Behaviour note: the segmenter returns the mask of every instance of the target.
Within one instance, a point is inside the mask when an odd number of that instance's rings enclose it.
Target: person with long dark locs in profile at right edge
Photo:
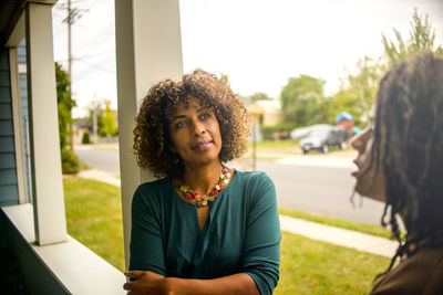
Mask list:
[[[382,224],[389,214],[400,241],[371,294],[443,294],[443,60],[426,53],[393,65],[370,127],[352,146],[356,191],[385,202]],[[404,242],[396,215],[408,231]]]

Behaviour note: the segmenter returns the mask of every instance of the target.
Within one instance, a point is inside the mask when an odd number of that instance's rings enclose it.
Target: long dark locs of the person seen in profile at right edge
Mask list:
[[[372,165],[378,169],[380,162],[385,176],[382,224],[391,225],[400,243],[384,273],[409,251],[410,244],[424,240],[432,244],[442,238],[442,114],[443,60],[432,53],[394,64],[380,82]],[[408,229],[404,242],[395,219],[398,213],[403,214]]]

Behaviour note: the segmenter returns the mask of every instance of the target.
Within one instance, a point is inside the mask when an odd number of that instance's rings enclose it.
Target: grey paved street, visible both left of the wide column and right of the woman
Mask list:
[[[85,164],[100,170],[120,173],[119,151],[76,147],[75,154]],[[349,152],[348,152],[349,154]],[[350,202],[354,179],[350,176],[354,154],[339,152],[323,156],[300,155],[280,160],[258,160],[257,170],[267,172],[276,183],[278,202],[292,208],[357,222],[380,224],[383,206],[356,196],[356,208]],[[248,165],[249,164],[249,165]],[[250,168],[250,160],[240,161]],[[248,167],[249,166],[249,167]]]

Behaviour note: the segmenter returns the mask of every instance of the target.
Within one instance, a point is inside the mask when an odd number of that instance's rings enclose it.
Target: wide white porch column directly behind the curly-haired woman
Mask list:
[[[115,0],[120,173],[126,267],[130,257],[131,201],[136,187],[152,180],[138,169],[133,126],[141,99],[166,77],[183,74],[178,0]]]

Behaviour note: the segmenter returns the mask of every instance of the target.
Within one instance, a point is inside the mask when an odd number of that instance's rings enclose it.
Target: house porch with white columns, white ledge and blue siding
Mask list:
[[[0,251],[11,259],[0,267],[17,271],[29,294],[125,294],[124,275],[66,233],[53,60],[55,2],[0,1]],[[115,20],[127,262],[132,196],[138,183],[152,179],[131,156],[132,124],[138,99],[154,83],[183,74],[178,0],[115,0]],[[1,287],[8,293],[13,286]]]

